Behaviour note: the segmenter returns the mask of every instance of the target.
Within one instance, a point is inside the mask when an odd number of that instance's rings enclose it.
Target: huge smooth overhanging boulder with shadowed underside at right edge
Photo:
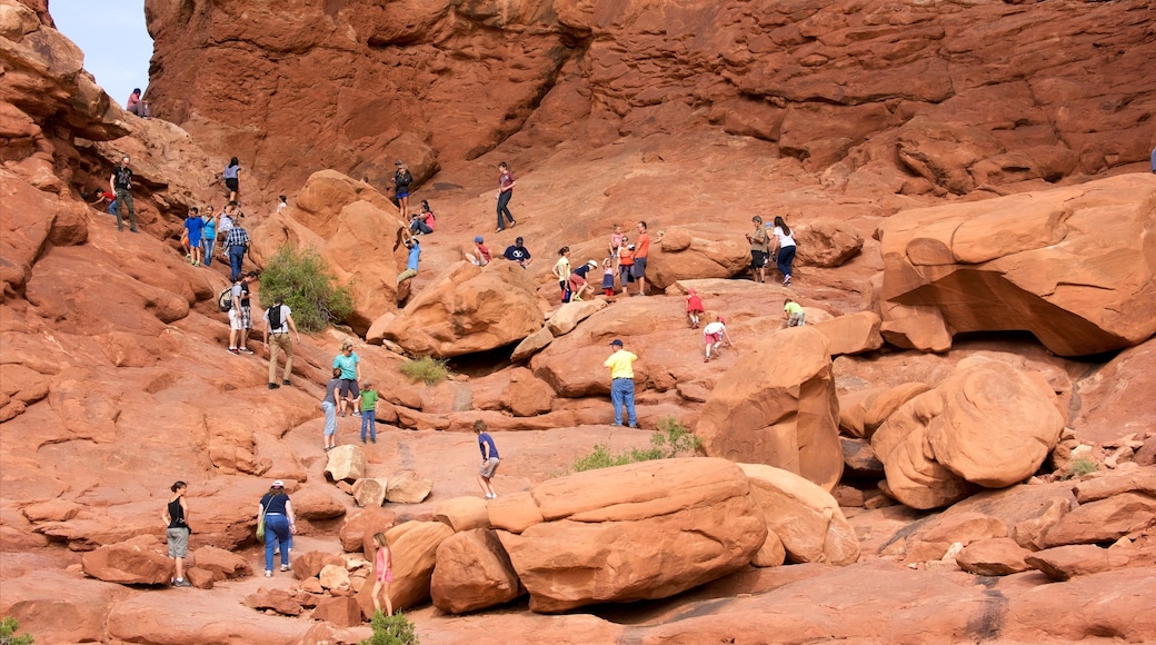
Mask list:
[[[1156,333],[1154,230],[1151,175],[907,210],[876,232],[880,296],[918,307],[924,329],[1027,329],[1061,356],[1131,347]],[[897,313],[883,309],[884,335],[903,333]],[[942,349],[931,338],[907,334]]]

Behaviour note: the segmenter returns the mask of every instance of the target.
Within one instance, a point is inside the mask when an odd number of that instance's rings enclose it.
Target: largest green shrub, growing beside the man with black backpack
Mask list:
[[[259,296],[264,307],[284,298],[302,332],[320,332],[354,311],[353,292],[336,284],[325,259],[312,249],[289,244],[281,245],[261,272]]]

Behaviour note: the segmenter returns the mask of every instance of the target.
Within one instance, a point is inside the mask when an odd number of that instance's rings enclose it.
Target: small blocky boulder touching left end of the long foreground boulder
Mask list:
[[[491,529],[455,533],[437,548],[430,596],[443,611],[464,614],[494,607],[524,591],[510,556]]]

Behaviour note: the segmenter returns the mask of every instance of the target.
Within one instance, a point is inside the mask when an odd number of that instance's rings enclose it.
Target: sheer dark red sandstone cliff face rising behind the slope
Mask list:
[[[968,193],[1147,158],[1142,0],[147,0],[156,112],[294,186],[721,128],[829,179]],[[540,148],[541,149],[541,148]]]

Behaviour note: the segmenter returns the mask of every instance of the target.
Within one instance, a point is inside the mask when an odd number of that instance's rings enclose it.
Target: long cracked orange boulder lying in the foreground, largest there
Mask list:
[[[721,459],[577,473],[529,501],[544,521],[498,536],[540,613],[667,598],[747,565],[766,538],[746,475]]]

